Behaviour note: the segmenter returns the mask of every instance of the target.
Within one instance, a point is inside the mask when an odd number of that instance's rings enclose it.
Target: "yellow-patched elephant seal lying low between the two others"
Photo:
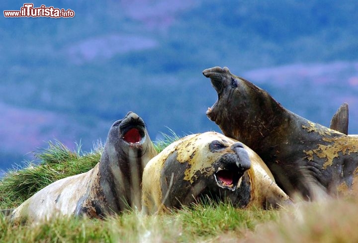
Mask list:
[[[205,197],[240,208],[290,202],[254,151],[216,132],[189,135],[164,149],[144,168],[142,191],[147,214]]]

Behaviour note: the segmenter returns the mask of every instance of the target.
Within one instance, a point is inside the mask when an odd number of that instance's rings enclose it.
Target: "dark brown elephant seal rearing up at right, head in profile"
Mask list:
[[[358,174],[358,139],[308,121],[268,92],[230,73],[203,71],[218,93],[207,116],[223,133],[245,143],[292,196],[318,199],[347,191]],[[322,196],[322,197],[321,197]]]

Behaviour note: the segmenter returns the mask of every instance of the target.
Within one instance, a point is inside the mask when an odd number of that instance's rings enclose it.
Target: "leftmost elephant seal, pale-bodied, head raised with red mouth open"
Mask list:
[[[130,206],[140,209],[143,169],[156,155],[144,121],[128,112],[111,126],[92,169],[41,189],[14,210],[12,221],[39,222],[59,215],[103,218]]]

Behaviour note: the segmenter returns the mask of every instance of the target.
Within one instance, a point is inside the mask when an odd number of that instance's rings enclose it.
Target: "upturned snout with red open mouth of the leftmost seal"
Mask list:
[[[138,144],[145,138],[145,123],[132,111],[127,113],[119,128],[123,140],[129,144]]]

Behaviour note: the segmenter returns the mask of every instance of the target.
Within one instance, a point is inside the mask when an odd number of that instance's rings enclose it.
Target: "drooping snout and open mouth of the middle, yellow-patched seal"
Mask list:
[[[219,187],[234,191],[245,171],[250,169],[249,155],[242,143],[231,146],[234,153],[224,154],[218,163],[214,177]]]

